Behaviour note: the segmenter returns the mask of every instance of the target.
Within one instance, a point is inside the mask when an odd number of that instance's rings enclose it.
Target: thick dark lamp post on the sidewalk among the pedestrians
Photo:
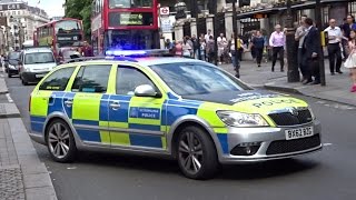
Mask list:
[[[287,18],[286,18],[286,44],[288,60],[288,82],[299,82],[300,74],[298,70],[297,49],[295,41],[295,28],[293,26],[291,0],[287,0]]]

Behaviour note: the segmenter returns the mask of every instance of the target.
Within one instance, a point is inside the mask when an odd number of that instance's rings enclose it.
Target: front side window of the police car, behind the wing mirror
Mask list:
[[[134,96],[135,89],[141,84],[150,84],[155,87],[154,82],[140,70],[130,67],[118,68],[116,81],[117,94]]]

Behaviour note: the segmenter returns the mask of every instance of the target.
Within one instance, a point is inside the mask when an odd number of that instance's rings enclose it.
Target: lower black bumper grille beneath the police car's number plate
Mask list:
[[[278,140],[273,141],[266,154],[281,154],[281,153],[290,153],[296,151],[303,151],[307,149],[313,149],[320,146],[320,136],[315,134],[308,138],[301,138],[297,140]]]

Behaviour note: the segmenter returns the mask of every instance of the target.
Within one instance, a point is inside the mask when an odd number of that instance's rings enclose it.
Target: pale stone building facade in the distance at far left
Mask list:
[[[7,50],[20,49],[27,40],[33,39],[37,27],[49,21],[44,10],[31,7],[22,0],[0,0],[1,30]],[[1,40],[1,37],[0,37]]]

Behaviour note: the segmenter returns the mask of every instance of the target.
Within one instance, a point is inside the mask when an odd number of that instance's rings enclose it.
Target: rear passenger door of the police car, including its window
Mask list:
[[[73,99],[67,100],[72,106],[72,124],[80,139],[87,144],[108,144],[108,80],[111,64],[88,64],[80,67],[71,91]]]

